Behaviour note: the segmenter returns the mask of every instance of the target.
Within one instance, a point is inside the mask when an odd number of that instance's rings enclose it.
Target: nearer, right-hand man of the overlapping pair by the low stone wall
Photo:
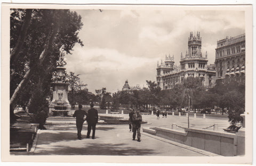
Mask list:
[[[136,132],[137,132],[137,138],[138,142],[140,142],[140,126],[141,126],[142,117],[140,115],[140,110],[137,110],[136,113],[132,116],[132,140],[135,140]]]

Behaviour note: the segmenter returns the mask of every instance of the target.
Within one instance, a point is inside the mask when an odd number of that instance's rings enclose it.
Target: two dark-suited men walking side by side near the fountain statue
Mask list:
[[[86,120],[87,121],[87,136],[86,138],[90,138],[91,129],[92,129],[92,139],[95,138],[95,130],[96,130],[96,124],[98,123],[98,111],[94,109],[94,104],[90,104],[91,109],[88,110],[88,113],[86,111],[82,110],[82,104],[79,104],[78,110],[75,111],[73,117],[76,117],[76,128],[77,128],[77,138],[82,139],[82,128],[83,123]],[[84,116],[86,118],[84,119]]]

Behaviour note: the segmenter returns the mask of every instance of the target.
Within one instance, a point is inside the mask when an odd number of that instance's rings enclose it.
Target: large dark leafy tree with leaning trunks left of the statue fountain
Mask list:
[[[14,118],[13,109],[20,99],[24,99],[23,95],[30,94],[30,98],[22,102],[32,104],[33,100],[39,100],[35,98],[38,92],[43,92],[42,100],[49,94],[51,73],[56,67],[60,46],[65,46],[67,54],[71,54],[75,43],[83,46],[78,38],[83,25],[81,19],[69,10],[11,10],[11,119]]]

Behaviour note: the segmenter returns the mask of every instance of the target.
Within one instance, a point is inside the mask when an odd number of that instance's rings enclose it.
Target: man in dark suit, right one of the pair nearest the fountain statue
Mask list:
[[[96,129],[96,124],[98,123],[98,111],[96,109],[94,109],[94,104],[93,102],[91,103],[91,109],[88,110],[88,115],[87,115],[87,137],[86,138],[90,138],[90,134],[91,134],[91,129],[92,129],[92,139],[94,139],[95,137],[95,129]]]

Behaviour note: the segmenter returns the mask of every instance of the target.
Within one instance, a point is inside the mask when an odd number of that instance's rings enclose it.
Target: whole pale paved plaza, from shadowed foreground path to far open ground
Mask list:
[[[100,114],[103,116],[103,114]],[[128,115],[108,115],[127,118]],[[148,124],[141,127],[171,127],[172,123],[186,127],[186,116],[168,116],[157,119],[155,115],[142,115]],[[48,121],[49,123],[49,121]],[[34,155],[159,155],[159,156],[211,156],[211,153],[183,146],[164,138],[143,133],[141,142],[132,141],[129,125],[97,125],[95,139],[86,139],[87,125],[84,124],[83,139],[77,139],[74,120],[69,124],[58,124],[52,120],[47,130],[39,130]],[[190,118],[191,128],[202,128],[217,123],[220,128],[229,124],[225,119]],[[221,129],[222,130],[222,129]]]

